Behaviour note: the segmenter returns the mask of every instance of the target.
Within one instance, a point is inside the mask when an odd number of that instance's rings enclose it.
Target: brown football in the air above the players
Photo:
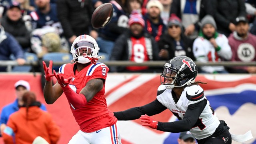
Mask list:
[[[103,28],[106,26],[112,19],[113,12],[113,6],[110,3],[98,6],[92,14],[92,27]]]

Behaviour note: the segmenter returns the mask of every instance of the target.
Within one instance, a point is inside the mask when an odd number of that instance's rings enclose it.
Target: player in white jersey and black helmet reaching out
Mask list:
[[[114,112],[118,120],[140,118],[142,126],[164,132],[190,131],[198,144],[231,144],[229,127],[218,120],[204,90],[195,82],[197,67],[191,58],[176,56],[164,65],[156,100],[140,107]],[[169,109],[175,122],[158,122],[150,116]]]

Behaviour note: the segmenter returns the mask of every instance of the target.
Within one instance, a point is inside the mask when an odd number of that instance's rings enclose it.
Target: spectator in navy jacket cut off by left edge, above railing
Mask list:
[[[0,24],[0,60],[11,60],[11,54],[19,65],[25,64],[22,47],[11,34],[4,31],[4,27]],[[2,71],[6,71],[6,67],[0,67],[0,72]]]

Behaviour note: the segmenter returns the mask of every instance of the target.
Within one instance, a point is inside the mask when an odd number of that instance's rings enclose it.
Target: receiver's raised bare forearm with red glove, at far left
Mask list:
[[[47,104],[53,104],[63,93],[60,85],[57,83],[52,86],[52,60],[50,60],[49,67],[46,66],[46,63],[43,61],[44,67],[44,76],[46,79],[44,85],[44,99]]]

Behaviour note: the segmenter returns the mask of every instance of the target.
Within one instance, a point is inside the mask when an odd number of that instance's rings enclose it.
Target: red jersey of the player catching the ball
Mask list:
[[[96,63],[90,64],[80,72],[76,70],[76,74],[74,74],[74,65],[75,64],[62,65],[59,69],[59,74],[64,76],[65,79],[70,78],[70,76],[73,77],[69,86],[77,94],[86,86],[89,80],[95,78],[106,80],[109,71],[109,68],[105,64]],[[92,100],[87,102],[86,106],[75,109],[70,102],[68,103],[76,122],[80,126],[80,130],[83,132],[95,132],[96,130],[112,126],[117,122],[114,113],[107,108],[105,82],[102,90],[100,90]]]

